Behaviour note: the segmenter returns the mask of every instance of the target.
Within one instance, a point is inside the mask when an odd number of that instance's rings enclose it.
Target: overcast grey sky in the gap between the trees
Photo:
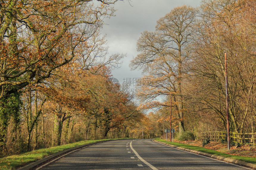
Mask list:
[[[201,0],[127,0],[118,1],[115,17],[105,19],[102,33],[107,34],[109,53],[127,53],[121,68],[113,70],[120,83],[124,78],[139,78],[141,71],[130,71],[129,62],[138,53],[136,43],[143,31],[154,31],[156,22],[177,6],[198,7]]]

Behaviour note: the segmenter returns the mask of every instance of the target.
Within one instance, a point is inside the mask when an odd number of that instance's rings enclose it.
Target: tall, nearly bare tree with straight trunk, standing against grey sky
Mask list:
[[[172,95],[179,131],[184,128],[183,80],[188,73],[196,21],[196,9],[186,5],[176,7],[157,21],[154,32],[144,31],[137,42],[140,54],[130,66],[142,69],[145,77],[137,96],[143,102],[141,108],[168,105],[157,101],[158,96]]]

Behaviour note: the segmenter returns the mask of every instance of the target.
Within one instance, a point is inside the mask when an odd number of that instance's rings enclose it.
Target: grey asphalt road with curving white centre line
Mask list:
[[[85,147],[38,169],[244,170],[246,168],[177,150],[153,142],[152,139],[127,139]]]

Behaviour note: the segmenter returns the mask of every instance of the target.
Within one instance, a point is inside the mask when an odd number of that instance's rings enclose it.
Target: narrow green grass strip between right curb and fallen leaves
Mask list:
[[[238,160],[238,161],[244,161],[244,162],[256,164],[256,158],[252,158],[252,157],[229,155],[229,154],[218,152],[218,151],[215,151],[215,150],[206,149],[204,147],[193,146],[193,145],[188,145],[188,144],[181,144],[181,143],[178,143],[178,142],[166,142],[166,140],[163,140],[163,139],[160,139],[160,138],[155,138],[155,140],[159,141],[159,142],[164,142],[164,143],[167,143],[167,144],[172,144],[172,145],[175,145],[175,146],[178,146],[178,147],[183,147],[183,148],[186,148],[186,149],[196,150],[196,151],[200,151],[200,152],[209,153],[209,154],[212,154],[212,155],[218,155],[218,156],[222,156],[222,157],[225,157],[225,158],[231,158],[231,159],[235,159],[235,160]]]

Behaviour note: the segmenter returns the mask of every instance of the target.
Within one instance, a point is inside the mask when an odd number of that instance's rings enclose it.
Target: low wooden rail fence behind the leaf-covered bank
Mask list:
[[[214,131],[214,132],[201,132],[197,133],[196,139],[204,140],[206,138],[210,138],[213,141],[219,141],[221,139],[225,139],[227,132],[222,131]],[[237,142],[240,144],[252,144],[256,145],[256,133],[230,133],[230,141]]]

